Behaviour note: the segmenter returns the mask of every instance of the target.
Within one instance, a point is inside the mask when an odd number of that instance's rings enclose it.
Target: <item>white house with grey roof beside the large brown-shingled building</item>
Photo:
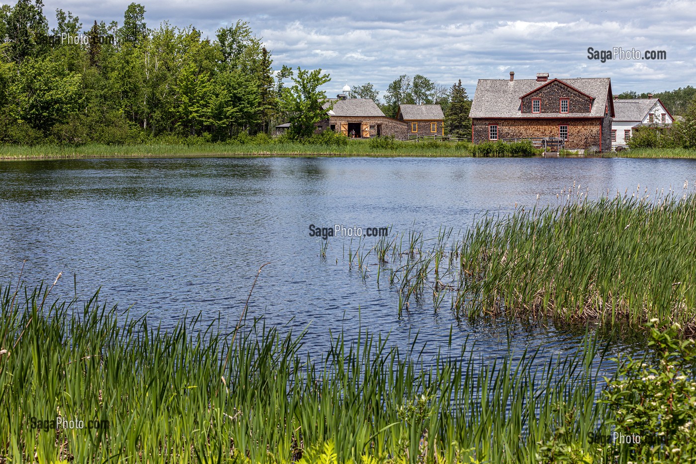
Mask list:
[[[669,127],[674,122],[670,111],[659,98],[631,98],[614,100],[615,116],[612,118],[612,147],[627,146],[633,131],[641,126]]]

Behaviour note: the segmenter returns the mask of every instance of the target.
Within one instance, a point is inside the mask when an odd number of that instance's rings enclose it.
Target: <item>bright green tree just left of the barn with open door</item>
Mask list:
[[[290,113],[290,137],[310,137],[315,124],[326,119],[326,111],[333,105],[324,108],[326,93],[319,87],[331,81],[328,74],[322,74],[321,69],[303,70],[297,68],[297,77],[292,78],[294,85],[289,92],[283,93],[283,107]]]

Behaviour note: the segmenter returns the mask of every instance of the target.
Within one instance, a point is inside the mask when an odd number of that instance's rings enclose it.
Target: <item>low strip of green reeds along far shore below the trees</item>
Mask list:
[[[342,146],[274,142],[266,144],[86,144],[0,146],[0,160],[40,160],[107,157],[245,157],[245,156],[470,156],[468,145],[450,142],[398,142],[390,148],[352,140]]]

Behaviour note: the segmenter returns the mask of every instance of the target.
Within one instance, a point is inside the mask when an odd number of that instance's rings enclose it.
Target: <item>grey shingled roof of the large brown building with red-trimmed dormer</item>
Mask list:
[[[552,79],[551,82],[561,82],[576,91],[594,98],[592,111],[589,113],[522,113],[521,100],[523,95],[548,85],[550,82],[538,82],[537,79],[479,79],[476,93],[471,103],[471,118],[578,118],[604,116],[604,108],[611,100],[611,79],[608,77]]]

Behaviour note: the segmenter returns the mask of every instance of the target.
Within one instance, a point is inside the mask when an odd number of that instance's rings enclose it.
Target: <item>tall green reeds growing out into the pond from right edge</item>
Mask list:
[[[684,185],[686,192],[688,185]],[[549,318],[638,328],[652,318],[696,332],[696,195],[640,190],[485,214],[464,234],[408,231],[371,248],[399,311],[414,300],[457,316]],[[363,248],[369,245],[363,245]],[[356,254],[365,254],[358,249]],[[359,268],[364,279],[374,265]]]

